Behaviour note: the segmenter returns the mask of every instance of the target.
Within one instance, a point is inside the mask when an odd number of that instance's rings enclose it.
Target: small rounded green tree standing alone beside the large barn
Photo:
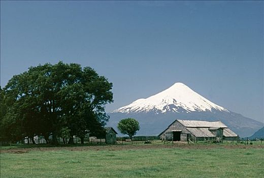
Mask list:
[[[130,139],[140,129],[139,122],[135,118],[124,118],[117,124],[117,128],[122,134],[128,135]]]

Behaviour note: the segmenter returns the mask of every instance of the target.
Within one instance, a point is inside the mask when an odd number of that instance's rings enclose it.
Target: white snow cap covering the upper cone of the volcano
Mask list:
[[[192,112],[192,111],[219,111],[229,112],[218,106],[183,83],[177,82],[168,89],[146,99],[138,99],[133,103],[123,106],[113,112],[139,113],[154,111],[156,113],[170,112]]]

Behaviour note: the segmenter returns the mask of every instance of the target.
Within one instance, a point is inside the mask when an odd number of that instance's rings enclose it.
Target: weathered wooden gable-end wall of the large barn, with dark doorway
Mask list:
[[[173,130],[181,130],[181,141],[187,141],[187,134],[191,134],[186,127],[184,127],[178,121],[175,121],[167,130],[163,131],[160,135],[160,139],[162,140],[172,140],[172,131]],[[191,134],[191,137],[194,138],[194,135]]]

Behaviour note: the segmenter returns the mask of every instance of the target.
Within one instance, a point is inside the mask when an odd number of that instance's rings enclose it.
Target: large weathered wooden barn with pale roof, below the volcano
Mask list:
[[[220,121],[175,120],[159,138],[168,141],[197,141],[205,139],[237,140],[238,135]]]

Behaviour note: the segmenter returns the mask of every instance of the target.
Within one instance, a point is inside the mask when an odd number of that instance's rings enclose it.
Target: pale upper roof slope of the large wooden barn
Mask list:
[[[177,120],[185,127],[218,127],[218,128],[228,128],[226,125],[220,121],[208,122],[208,121],[186,121],[186,120]],[[207,129],[208,130],[208,129]]]

